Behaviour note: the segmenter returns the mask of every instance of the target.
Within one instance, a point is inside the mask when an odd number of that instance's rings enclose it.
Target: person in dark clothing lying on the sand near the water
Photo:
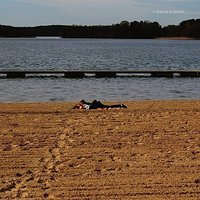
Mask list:
[[[86,102],[85,100],[81,100],[78,104],[76,104],[73,109],[98,109],[98,110],[108,110],[108,109],[119,109],[119,108],[127,108],[124,104],[116,104],[116,105],[104,105],[100,101],[94,100],[92,103]]]

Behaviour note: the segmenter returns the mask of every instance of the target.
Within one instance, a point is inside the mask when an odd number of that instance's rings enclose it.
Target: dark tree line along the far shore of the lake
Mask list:
[[[153,39],[156,37],[200,38],[200,19],[187,20],[179,25],[162,27],[158,22],[122,21],[104,26],[50,25],[37,27],[12,27],[0,25],[0,37],[63,37],[63,38],[130,38]]]

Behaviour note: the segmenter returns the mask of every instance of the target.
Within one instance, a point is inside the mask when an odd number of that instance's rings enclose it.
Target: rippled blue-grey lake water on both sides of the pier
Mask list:
[[[200,70],[200,41],[0,39],[0,70]],[[200,99],[199,78],[0,77],[0,102]]]

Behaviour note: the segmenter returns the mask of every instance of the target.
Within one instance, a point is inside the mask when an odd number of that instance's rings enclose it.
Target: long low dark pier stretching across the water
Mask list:
[[[27,76],[58,76],[65,78],[114,78],[114,77],[200,77],[200,70],[74,70],[74,71],[0,71],[0,77],[26,78]]]

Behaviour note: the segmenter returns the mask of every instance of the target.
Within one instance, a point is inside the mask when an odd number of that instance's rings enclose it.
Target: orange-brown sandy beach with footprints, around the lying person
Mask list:
[[[0,199],[199,199],[200,101],[0,104]]]

